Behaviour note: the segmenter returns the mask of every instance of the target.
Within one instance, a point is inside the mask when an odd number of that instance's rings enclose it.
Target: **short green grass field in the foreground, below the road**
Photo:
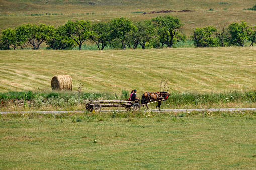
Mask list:
[[[255,113],[148,118],[112,118],[113,114],[2,115],[0,165],[4,169],[256,168]]]

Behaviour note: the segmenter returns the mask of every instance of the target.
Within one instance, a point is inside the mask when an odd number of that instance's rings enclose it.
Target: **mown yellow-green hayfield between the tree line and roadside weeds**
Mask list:
[[[51,90],[54,75],[69,74],[74,90],[255,90],[255,47],[106,51],[9,50],[0,54],[0,91]]]

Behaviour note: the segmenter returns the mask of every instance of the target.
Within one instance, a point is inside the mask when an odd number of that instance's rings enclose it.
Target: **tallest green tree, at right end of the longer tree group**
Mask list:
[[[163,45],[172,47],[176,42],[183,40],[184,36],[181,36],[179,33],[183,24],[178,18],[166,15],[153,18],[152,21],[157,27],[157,33],[162,47]]]

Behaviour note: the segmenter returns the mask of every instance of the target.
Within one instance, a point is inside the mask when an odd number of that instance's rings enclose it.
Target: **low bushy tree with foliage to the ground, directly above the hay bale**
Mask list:
[[[49,46],[49,49],[64,50],[74,48],[76,42],[70,37],[66,36],[64,32],[64,26],[59,26],[58,28],[54,29],[53,34],[46,39],[46,44]]]

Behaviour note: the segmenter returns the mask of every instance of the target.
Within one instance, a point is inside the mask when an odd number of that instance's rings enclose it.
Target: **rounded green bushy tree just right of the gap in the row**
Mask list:
[[[196,28],[192,40],[195,47],[218,47],[218,38],[215,37],[217,29],[213,26]]]

